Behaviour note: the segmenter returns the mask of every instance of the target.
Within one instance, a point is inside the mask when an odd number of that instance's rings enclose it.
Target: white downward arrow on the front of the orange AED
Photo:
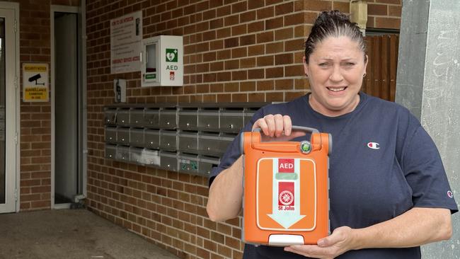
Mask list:
[[[272,214],[268,214],[268,216],[277,221],[284,229],[289,229],[290,226],[305,217],[305,215],[300,214],[300,161],[299,159],[294,159],[294,173],[297,174],[297,178],[294,180],[282,180],[283,182],[294,182],[294,210],[280,211],[278,209],[278,183],[280,180],[276,178],[277,171],[278,159],[273,159]]]

